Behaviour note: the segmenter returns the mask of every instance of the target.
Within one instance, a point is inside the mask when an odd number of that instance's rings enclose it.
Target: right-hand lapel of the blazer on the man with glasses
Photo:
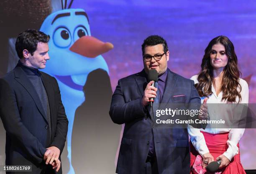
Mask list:
[[[160,108],[164,108],[167,105],[167,103],[171,102],[170,100],[172,100],[173,90],[177,82],[177,75],[171,72],[169,69],[167,70],[168,75],[166,79],[163,99],[161,101],[162,104],[160,105]]]

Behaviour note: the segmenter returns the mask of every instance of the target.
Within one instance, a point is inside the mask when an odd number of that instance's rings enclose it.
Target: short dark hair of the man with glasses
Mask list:
[[[154,45],[158,45],[158,44],[163,44],[165,53],[168,51],[168,45],[166,43],[166,40],[164,40],[164,38],[162,38],[161,36],[158,36],[158,35],[151,35],[151,36],[148,36],[144,40],[143,44],[141,45],[142,54],[144,55],[145,46],[154,46]]]

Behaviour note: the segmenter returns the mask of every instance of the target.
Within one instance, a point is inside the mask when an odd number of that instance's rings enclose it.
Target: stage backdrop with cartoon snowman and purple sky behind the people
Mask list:
[[[69,119],[63,171],[113,174],[122,126],[108,115],[111,95],[118,79],[143,69],[143,39],[163,36],[170,51],[168,67],[190,78],[199,72],[209,41],[228,36],[255,103],[255,11],[253,0],[2,0],[0,76],[18,61],[18,33],[35,28],[49,34],[51,59],[43,71],[57,79]],[[2,123],[0,129],[4,140]],[[245,169],[255,169],[255,136],[256,130],[247,129],[240,142]],[[0,165],[4,147],[0,141]]]

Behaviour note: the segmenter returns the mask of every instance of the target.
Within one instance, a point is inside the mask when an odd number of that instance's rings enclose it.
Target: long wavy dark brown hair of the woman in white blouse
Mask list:
[[[226,36],[218,36],[213,38],[205,49],[205,55],[202,59],[201,70],[198,74],[198,82],[195,87],[201,97],[207,97],[212,94],[212,83],[214,82],[213,67],[210,63],[210,54],[212,46],[222,44],[225,47],[225,54],[228,56],[228,64],[223,69],[223,78],[221,82],[221,91],[223,91],[222,100],[228,102],[236,102],[238,96],[241,101],[241,85],[239,84],[239,76],[241,72],[237,65],[237,56],[232,42]],[[238,91],[238,86],[240,90]]]

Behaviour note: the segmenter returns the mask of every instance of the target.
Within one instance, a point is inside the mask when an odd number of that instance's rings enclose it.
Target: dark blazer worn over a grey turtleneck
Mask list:
[[[68,129],[56,79],[44,72],[41,79],[49,100],[51,138],[47,136],[49,123],[43,106],[23,69],[17,65],[0,79],[0,117],[6,130],[5,165],[32,165],[33,174],[55,173],[46,167],[44,153],[50,146],[62,152]]]

